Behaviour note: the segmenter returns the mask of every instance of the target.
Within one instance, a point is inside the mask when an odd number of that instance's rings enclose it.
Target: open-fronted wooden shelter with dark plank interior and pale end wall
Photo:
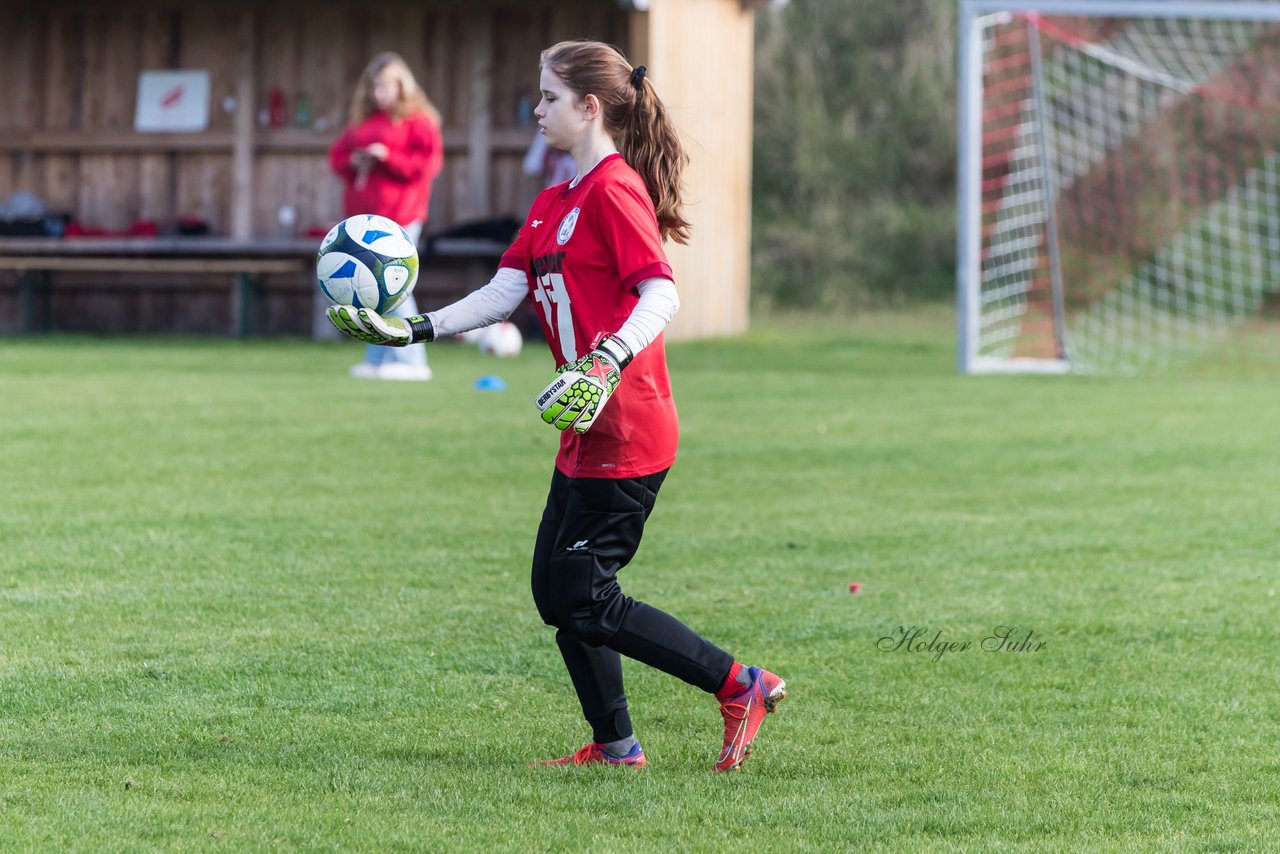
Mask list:
[[[668,245],[684,302],[672,335],[741,332],[753,5],[0,0],[0,204],[31,193],[84,228],[118,234],[143,223],[161,236],[150,245],[116,241],[131,248],[114,261],[82,252],[79,262],[73,252],[93,242],[73,247],[73,238],[60,238],[44,252],[38,288],[32,242],[0,237],[0,332],[32,325],[40,311],[58,330],[243,330],[236,314],[244,320],[243,300],[253,293],[252,330],[308,333],[315,287],[306,256],[319,242],[314,232],[342,218],[328,149],[367,60],[383,50],[402,54],[444,118],[445,168],[426,228],[433,234],[524,218],[540,189],[521,169],[536,129],[538,55],[577,37],[609,41],[649,67],[692,157],[694,241]],[[207,72],[206,127],[136,129],[140,74],[155,69]],[[197,220],[219,237],[177,234],[179,222]],[[220,262],[202,268],[215,246]],[[486,280],[493,261],[490,248],[488,256],[463,251],[433,264],[419,286],[420,303],[440,305],[480,283],[479,275]],[[228,300],[237,264],[244,275]],[[32,302],[37,297],[42,309]]]

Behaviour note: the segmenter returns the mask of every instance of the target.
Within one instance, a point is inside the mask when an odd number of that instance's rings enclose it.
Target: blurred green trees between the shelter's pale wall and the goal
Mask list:
[[[755,303],[948,298],[955,125],[954,0],[758,13]]]

